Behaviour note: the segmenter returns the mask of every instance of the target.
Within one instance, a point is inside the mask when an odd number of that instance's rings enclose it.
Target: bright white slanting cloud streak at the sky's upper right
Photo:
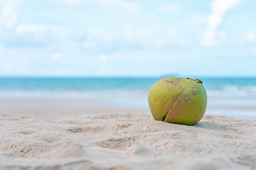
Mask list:
[[[202,35],[203,46],[215,46],[225,39],[225,33],[218,32],[226,12],[240,3],[240,0],[214,0],[211,3],[211,14],[208,18],[207,30]]]

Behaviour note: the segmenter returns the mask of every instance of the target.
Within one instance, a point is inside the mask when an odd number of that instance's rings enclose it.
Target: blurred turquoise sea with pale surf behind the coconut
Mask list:
[[[206,115],[256,118],[256,77],[193,77],[207,91]],[[0,99],[89,99],[150,114],[148,91],[161,77],[0,77]],[[100,100],[99,100],[100,99]]]

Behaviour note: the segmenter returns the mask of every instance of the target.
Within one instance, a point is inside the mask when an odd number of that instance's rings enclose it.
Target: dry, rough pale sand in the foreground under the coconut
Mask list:
[[[0,170],[254,170],[256,119],[0,113]]]

